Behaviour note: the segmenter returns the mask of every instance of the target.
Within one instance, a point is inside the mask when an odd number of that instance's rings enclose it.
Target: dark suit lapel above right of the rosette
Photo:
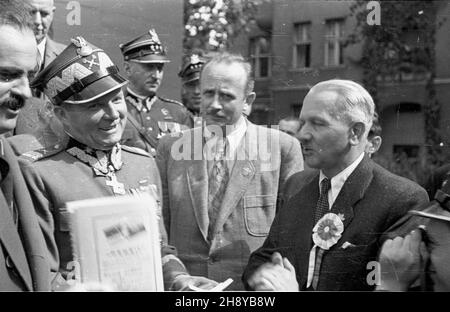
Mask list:
[[[361,163],[348,177],[347,181],[345,181],[344,186],[331,208],[332,213],[343,214],[344,231],[353,220],[353,207],[361,198],[363,198],[367,187],[372,181],[372,165],[371,160],[367,156],[364,156]]]

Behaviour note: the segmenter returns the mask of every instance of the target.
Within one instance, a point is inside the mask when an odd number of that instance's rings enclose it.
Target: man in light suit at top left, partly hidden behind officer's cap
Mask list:
[[[33,20],[33,31],[38,47],[38,72],[40,72],[65,49],[65,45],[55,42],[48,36],[55,12],[53,0],[26,2]],[[24,133],[33,134],[43,146],[47,147],[61,145],[67,139],[61,123],[53,114],[50,101],[43,93],[35,91],[19,115],[14,134]]]

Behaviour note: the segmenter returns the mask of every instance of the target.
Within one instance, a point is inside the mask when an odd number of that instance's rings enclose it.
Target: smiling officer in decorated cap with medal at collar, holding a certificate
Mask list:
[[[82,37],[72,39],[32,84],[52,101],[55,115],[70,137],[62,149],[41,149],[19,157],[51,267],[64,277],[73,267],[68,214],[63,208],[66,202],[141,192],[161,201],[161,181],[153,158],[119,143],[126,124],[121,90],[125,84],[108,55]],[[162,218],[159,222],[166,288],[216,285],[186,272],[175,249],[167,245]]]

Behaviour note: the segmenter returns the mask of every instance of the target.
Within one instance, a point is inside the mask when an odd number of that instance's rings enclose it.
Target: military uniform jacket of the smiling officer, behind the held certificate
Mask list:
[[[64,204],[68,201],[115,196],[106,177],[96,176],[92,168],[70,155],[66,149],[47,148],[31,151],[19,157],[25,181],[44,233],[51,260],[52,271],[65,277],[73,260],[68,226],[68,214]],[[127,193],[138,191],[145,184],[151,186],[160,202],[161,181],[153,158],[146,152],[122,146],[123,166],[116,171],[117,180],[124,184]],[[139,191],[138,191],[139,192]],[[160,213],[161,215],[161,213]],[[175,249],[167,246],[167,234],[160,218],[163,273],[166,286],[184,267],[175,255]],[[168,257],[165,261],[164,257]],[[174,260],[175,259],[175,260]],[[174,260],[174,261],[169,261]],[[58,285],[54,285],[58,286]]]

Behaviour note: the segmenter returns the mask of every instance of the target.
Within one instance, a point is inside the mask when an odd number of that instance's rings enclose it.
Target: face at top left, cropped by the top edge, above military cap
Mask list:
[[[39,43],[48,34],[53,21],[55,6],[53,0],[28,0],[28,2],[32,8],[34,36]]]

